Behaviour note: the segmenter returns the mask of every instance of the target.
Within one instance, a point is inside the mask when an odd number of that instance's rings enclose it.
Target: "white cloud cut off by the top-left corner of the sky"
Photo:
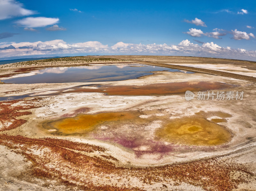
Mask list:
[[[22,7],[23,4],[15,0],[0,0],[0,20],[35,14],[35,11]]]

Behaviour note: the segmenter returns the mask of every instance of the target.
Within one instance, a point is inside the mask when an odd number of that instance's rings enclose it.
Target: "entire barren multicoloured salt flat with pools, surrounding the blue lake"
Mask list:
[[[46,68],[145,65],[177,71],[4,83]],[[256,190],[256,62],[77,56],[0,65],[0,80],[0,190]]]

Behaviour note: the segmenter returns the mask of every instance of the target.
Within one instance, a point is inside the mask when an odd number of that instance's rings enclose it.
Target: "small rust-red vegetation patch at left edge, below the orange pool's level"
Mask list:
[[[32,113],[29,111],[20,112],[20,110],[28,110],[41,107],[40,103],[38,102],[39,100],[40,99],[12,100],[0,102],[0,122],[2,125],[0,131],[15,129],[26,123],[27,120],[17,119],[17,117],[20,117],[22,115],[29,115]],[[17,106],[12,106],[12,104],[15,103],[20,103],[22,105],[17,104]]]

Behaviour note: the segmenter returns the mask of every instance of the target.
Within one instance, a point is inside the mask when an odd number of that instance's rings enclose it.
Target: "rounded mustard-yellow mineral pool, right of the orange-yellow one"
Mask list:
[[[224,127],[201,117],[175,119],[156,131],[156,136],[174,144],[214,146],[227,143],[231,134]]]

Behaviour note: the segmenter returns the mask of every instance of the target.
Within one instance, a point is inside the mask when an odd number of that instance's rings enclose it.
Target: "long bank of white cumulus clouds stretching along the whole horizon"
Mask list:
[[[136,55],[190,55],[206,57],[224,57],[233,59],[255,60],[256,52],[245,49],[224,48],[213,42],[202,45],[191,43],[188,39],[177,45],[167,44],[132,44],[117,42],[108,46],[99,41],[68,44],[64,40],[0,43],[0,58],[32,55],[67,55],[67,54],[136,54]]]

